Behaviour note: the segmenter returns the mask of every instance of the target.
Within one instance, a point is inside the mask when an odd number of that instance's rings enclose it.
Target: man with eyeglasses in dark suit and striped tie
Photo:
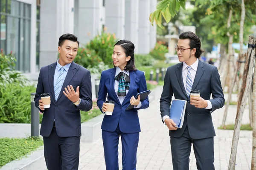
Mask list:
[[[162,121],[170,130],[173,169],[189,170],[193,143],[197,169],[214,170],[215,130],[211,113],[222,108],[225,102],[220,76],[215,66],[198,59],[204,51],[193,32],[180,34],[175,50],[180,63],[167,69],[160,98]],[[195,89],[200,91],[201,96],[190,99],[190,91]],[[210,99],[211,94],[213,99]],[[182,128],[177,128],[170,119],[173,95],[175,99],[187,101]]]

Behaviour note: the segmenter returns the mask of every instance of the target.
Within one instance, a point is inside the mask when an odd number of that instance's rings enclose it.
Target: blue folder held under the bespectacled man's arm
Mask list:
[[[186,100],[174,99],[170,108],[170,119],[176,123],[176,127],[182,128],[186,110]]]

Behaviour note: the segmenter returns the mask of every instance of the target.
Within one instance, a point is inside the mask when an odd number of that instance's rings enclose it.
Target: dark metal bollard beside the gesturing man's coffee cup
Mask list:
[[[39,111],[35,107],[35,93],[30,94],[31,136],[39,136]]]

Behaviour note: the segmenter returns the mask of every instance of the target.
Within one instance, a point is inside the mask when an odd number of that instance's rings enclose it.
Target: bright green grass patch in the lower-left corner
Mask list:
[[[10,161],[26,156],[43,144],[43,140],[39,137],[0,138],[0,167]]]

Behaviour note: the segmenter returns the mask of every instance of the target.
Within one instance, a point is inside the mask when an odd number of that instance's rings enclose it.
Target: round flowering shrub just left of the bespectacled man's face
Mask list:
[[[168,53],[168,48],[164,44],[165,42],[158,41],[149,54],[154,57],[154,59],[165,60],[166,57],[164,54]]]

